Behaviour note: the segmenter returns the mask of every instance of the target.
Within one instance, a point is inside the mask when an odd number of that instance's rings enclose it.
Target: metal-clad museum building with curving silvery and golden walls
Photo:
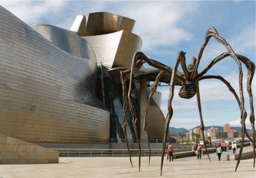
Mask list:
[[[96,12],[77,15],[70,29],[28,26],[0,6],[0,134],[49,147],[124,142],[120,71],[141,50],[134,24]],[[143,67],[132,85],[141,142],[150,81],[158,73]],[[147,118],[150,140],[164,135],[160,103],[161,93],[155,93]],[[128,139],[135,142],[129,110],[126,115]]]

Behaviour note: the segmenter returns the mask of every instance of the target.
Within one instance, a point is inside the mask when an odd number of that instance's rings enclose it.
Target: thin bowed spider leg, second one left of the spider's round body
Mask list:
[[[149,94],[149,96],[148,96],[147,106],[146,106],[146,108],[145,108],[145,118],[144,118],[143,128],[144,128],[144,131],[145,131],[145,135],[146,135],[147,141],[148,141],[147,113],[148,113],[148,109],[149,109],[149,106],[150,106],[150,101],[151,101],[151,99],[152,99],[154,93],[156,92],[157,85],[159,84],[159,80],[160,80],[161,76],[163,75],[163,72],[164,72],[164,71],[160,71],[160,72],[158,73],[158,75],[157,75],[157,77],[156,77],[156,81],[155,81],[155,83],[152,85],[152,87],[151,87],[151,89],[150,89],[150,94]],[[149,142],[148,142],[148,149],[149,149],[148,165],[150,165],[151,148],[150,148]]]

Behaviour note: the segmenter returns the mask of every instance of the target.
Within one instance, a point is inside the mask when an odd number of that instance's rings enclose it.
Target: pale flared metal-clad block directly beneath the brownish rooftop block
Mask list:
[[[129,31],[84,36],[83,38],[92,45],[97,61],[101,61],[108,70],[118,66],[131,67],[134,53],[140,51],[142,45],[140,36]]]

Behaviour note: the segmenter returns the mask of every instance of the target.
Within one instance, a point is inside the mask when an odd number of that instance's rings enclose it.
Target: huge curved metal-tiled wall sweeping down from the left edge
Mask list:
[[[98,104],[95,59],[61,50],[0,6],[0,63],[0,133],[28,142],[108,143],[109,112],[83,103]]]

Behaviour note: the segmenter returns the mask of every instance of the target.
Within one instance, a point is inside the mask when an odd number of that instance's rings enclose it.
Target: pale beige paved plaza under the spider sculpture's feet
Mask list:
[[[245,147],[247,150],[252,147]],[[237,150],[239,151],[239,149]],[[86,158],[60,158],[57,164],[24,164],[24,165],[0,165],[0,178],[43,178],[43,177],[207,177],[207,178],[255,178],[253,159],[241,160],[235,172],[237,161],[227,161],[224,152],[221,161],[215,153],[202,159],[196,156],[174,159],[173,162],[164,159],[163,175],[160,176],[161,157],[154,156],[148,165],[148,157],[141,158],[141,172],[138,172],[138,157],[132,157],[131,167],[128,157],[86,157]]]

